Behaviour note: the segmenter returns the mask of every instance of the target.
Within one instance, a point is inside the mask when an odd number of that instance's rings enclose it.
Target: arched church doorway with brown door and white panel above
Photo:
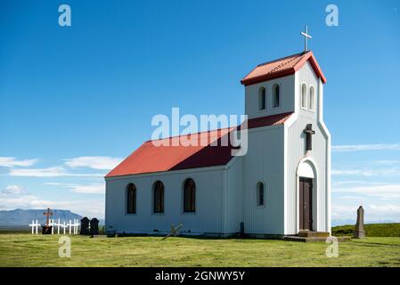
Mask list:
[[[316,171],[314,163],[304,159],[298,164],[298,230],[313,231],[316,200]]]

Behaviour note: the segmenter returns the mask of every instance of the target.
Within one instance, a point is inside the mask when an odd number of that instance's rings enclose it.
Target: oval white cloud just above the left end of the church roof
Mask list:
[[[75,159],[64,159],[68,167],[88,167],[98,170],[110,170],[122,161],[120,158],[110,157],[79,157]]]

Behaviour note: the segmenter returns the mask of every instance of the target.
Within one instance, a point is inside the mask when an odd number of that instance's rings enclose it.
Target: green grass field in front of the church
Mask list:
[[[0,234],[0,266],[400,266],[400,238],[327,244],[283,240],[71,236],[71,257],[57,235]]]

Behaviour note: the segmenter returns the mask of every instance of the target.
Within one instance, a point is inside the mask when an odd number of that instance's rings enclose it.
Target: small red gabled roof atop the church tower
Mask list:
[[[279,60],[259,64],[241,80],[241,84],[246,86],[253,85],[266,80],[292,75],[298,71],[298,69],[301,69],[307,61],[309,61],[313,67],[315,75],[321,78],[322,83],[326,83],[326,78],[314,57],[314,53],[309,51],[307,53],[297,53]]]

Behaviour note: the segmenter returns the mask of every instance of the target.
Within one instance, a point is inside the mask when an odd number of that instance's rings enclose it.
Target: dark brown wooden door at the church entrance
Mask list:
[[[313,228],[313,179],[300,177],[299,185],[300,230]]]

